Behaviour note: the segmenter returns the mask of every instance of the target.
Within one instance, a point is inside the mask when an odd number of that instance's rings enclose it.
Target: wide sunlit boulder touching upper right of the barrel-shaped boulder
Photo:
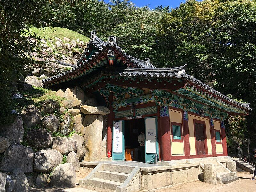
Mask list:
[[[54,137],[52,148],[58,150],[63,155],[67,155],[71,151],[76,151],[77,142],[68,137]]]

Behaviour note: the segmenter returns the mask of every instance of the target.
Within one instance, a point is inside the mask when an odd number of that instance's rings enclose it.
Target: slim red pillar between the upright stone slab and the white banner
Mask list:
[[[109,110],[110,113],[108,114],[108,124],[107,124],[107,153],[108,151],[112,152],[112,127],[113,127],[113,107],[112,107],[112,100],[113,95],[110,93],[109,99]]]

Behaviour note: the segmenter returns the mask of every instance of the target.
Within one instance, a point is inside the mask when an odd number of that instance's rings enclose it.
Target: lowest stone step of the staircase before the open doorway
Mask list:
[[[100,179],[100,178],[89,179],[89,185],[90,186],[103,188],[103,189],[116,190],[116,187],[120,186],[122,184],[123,183],[110,181],[110,180],[105,180],[105,179]]]

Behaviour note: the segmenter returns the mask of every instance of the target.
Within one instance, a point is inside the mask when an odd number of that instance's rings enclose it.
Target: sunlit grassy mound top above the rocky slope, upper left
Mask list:
[[[45,30],[40,30],[35,27],[32,27],[30,29],[32,30],[32,32],[35,32],[42,39],[52,39],[56,41],[55,37],[58,37],[61,40],[63,40],[63,37],[67,37],[71,40],[79,39],[80,41],[84,41],[84,42],[88,42],[90,40],[90,38],[88,38],[87,36],[84,36],[75,31],[72,31],[66,28],[61,28],[61,27],[46,28]]]

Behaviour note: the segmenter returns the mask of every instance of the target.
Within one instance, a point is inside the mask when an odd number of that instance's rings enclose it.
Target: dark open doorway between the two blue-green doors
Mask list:
[[[145,132],[144,118],[126,120],[124,124],[125,160],[145,162],[145,146],[140,148],[138,141],[141,132]]]

